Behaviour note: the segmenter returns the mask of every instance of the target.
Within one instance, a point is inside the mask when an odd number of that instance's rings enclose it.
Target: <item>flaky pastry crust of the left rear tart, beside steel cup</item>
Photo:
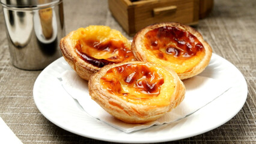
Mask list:
[[[78,36],[78,33],[80,31],[83,31],[83,29],[84,28],[80,28],[76,31],[72,31],[68,35],[66,35],[66,37],[62,38],[60,41],[59,47],[61,49],[64,59],[69,63],[69,65],[73,68],[73,70],[75,70],[76,73],[78,73],[78,75],[82,79],[89,80],[92,74],[100,70],[100,67],[94,66],[90,62],[84,61],[84,59],[82,59],[81,56],[79,56],[78,53],[76,52],[75,47],[76,47],[77,41],[79,41],[79,38],[80,38]],[[115,41],[118,41],[118,40],[122,41],[124,45],[129,47],[130,49],[130,45],[131,45],[130,41],[127,40],[127,38],[125,38],[123,35],[121,35],[119,31],[115,29],[110,29],[108,26],[88,26],[85,29],[87,29],[88,35],[84,34],[82,38],[90,40],[90,43],[92,43],[91,41],[93,40],[91,39],[93,38],[97,39],[97,41],[95,40],[96,43],[99,43],[99,42],[102,43],[106,40],[113,39]],[[103,29],[103,31],[101,29]],[[111,32],[109,32],[110,30]],[[84,32],[81,32],[81,33],[84,33]],[[135,58],[133,60],[135,60]]]

